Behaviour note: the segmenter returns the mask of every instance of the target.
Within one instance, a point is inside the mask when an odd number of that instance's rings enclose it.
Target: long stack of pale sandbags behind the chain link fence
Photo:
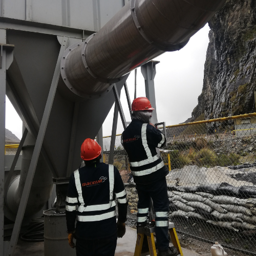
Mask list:
[[[236,196],[234,196],[236,195]],[[197,218],[234,231],[256,230],[256,188],[227,183],[168,191],[170,218]]]

